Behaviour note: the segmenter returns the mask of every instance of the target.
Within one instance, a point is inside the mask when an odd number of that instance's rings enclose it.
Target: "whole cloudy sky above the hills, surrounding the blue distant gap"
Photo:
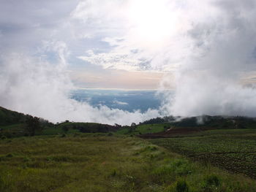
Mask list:
[[[0,0],[0,105],[59,120],[256,114],[254,0]],[[154,89],[159,110],[69,99],[75,88]],[[124,117],[124,118],[121,118]]]

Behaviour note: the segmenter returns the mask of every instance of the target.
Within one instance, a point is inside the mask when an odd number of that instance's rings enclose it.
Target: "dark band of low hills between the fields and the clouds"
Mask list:
[[[32,122],[29,123],[29,120]],[[35,120],[33,122],[33,120]],[[42,134],[75,134],[75,133],[110,133],[110,132],[125,132],[128,134],[146,134],[151,133],[151,129],[148,131],[133,130],[135,126],[120,126],[115,124],[114,126],[102,124],[102,123],[80,123],[70,122],[65,120],[62,123],[50,123],[48,120],[42,118],[36,118],[31,115],[25,115],[20,112],[7,110],[4,107],[0,107],[0,137],[22,137],[33,136],[29,133],[29,125],[33,126],[33,123],[37,123],[35,135]],[[138,126],[156,125],[157,130],[166,131],[169,128],[189,128],[192,131],[208,130],[208,129],[228,129],[228,128],[256,128],[256,119],[241,117],[241,116],[210,116],[202,115],[197,117],[173,117],[168,116],[164,118],[152,118],[139,123]],[[158,126],[162,127],[158,128]],[[160,130],[161,129],[161,130]],[[184,130],[185,130],[184,129]],[[119,131],[120,130],[120,131]]]

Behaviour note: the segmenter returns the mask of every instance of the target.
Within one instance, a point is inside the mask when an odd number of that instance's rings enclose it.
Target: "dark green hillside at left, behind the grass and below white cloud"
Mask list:
[[[0,107],[0,138],[28,136],[26,120],[29,117],[31,115],[24,115],[23,113]],[[101,123],[74,123],[68,120],[63,123],[53,124],[42,118],[39,118],[39,127],[35,133],[36,135],[74,134],[78,132],[107,133],[118,129],[116,126]]]

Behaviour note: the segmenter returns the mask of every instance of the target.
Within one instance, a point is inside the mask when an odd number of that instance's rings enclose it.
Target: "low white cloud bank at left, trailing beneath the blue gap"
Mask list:
[[[60,57],[61,58],[61,57]],[[118,123],[130,125],[159,115],[157,110],[127,112],[102,106],[91,107],[69,99],[72,82],[64,60],[53,65],[38,58],[13,53],[1,56],[0,106],[37,115],[52,122]]]

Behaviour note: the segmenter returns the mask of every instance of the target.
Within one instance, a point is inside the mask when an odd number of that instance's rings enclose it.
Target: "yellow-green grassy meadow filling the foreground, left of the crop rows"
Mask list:
[[[135,137],[70,134],[0,141],[0,191],[256,191],[254,180]]]

